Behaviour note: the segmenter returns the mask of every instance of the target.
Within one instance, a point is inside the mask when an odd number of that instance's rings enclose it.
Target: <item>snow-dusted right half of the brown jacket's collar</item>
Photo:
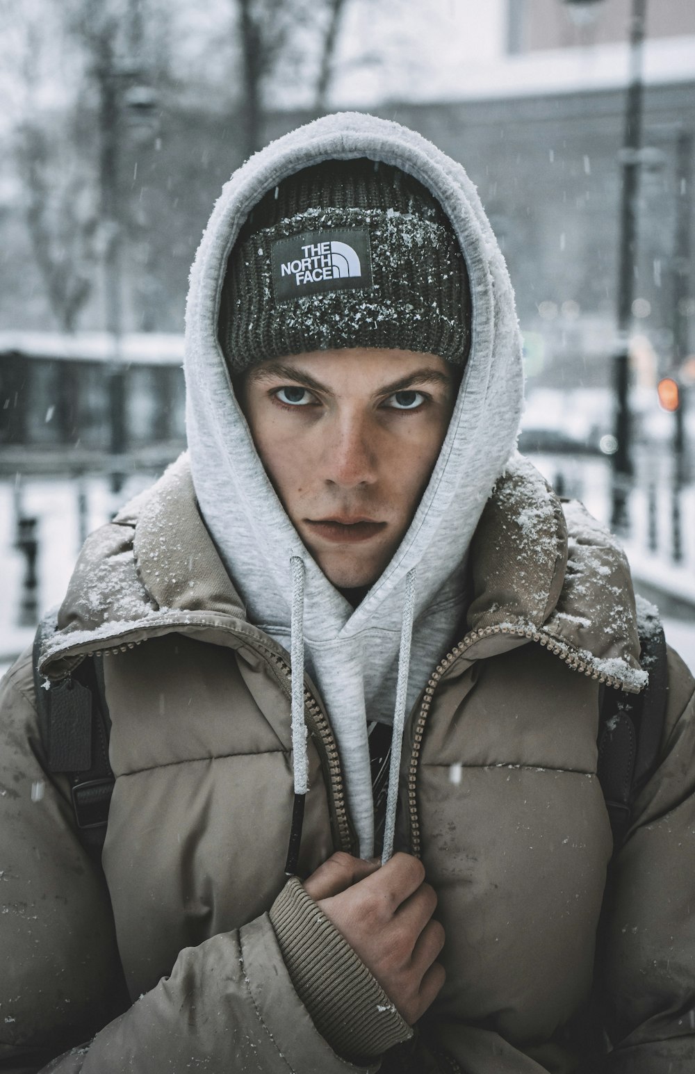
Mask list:
[[[533,640],[608,685],[629,693],[646,685],[622,548],[582,504],[560,500],[522,455],[486,505],[472,563],[468,658]]]

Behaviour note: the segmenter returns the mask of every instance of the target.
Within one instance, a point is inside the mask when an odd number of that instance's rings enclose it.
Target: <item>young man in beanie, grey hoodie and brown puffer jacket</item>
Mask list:
[[[186,375],[190,458],[89,538],[40,661],[50,693],[103,670],[103,875],[29,656],[3,685],[3,1069],[691,1071],[694,683],[670,654],[613,850],[629,574],[513,453],[512,292],[462,169],[360,115],[254,157]]]

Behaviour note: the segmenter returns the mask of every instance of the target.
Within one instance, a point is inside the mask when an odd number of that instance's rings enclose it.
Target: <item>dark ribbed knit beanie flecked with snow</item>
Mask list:
[[[232,375],[266,359],[380,347],[465,364],[470,292],[451,222],[417,179],[360,158],[284,179],[247,217],[223,281]]]

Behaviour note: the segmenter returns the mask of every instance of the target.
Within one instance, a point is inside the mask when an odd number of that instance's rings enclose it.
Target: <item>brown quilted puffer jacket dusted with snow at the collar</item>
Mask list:
[[[694,1069],[693,679],[670,653],[658,767],[607,885],[598,694],[641,684],[624,557],[519,459],[470,562],[462,640],[403,751],[399,845],[437,891],[447,971],[406,1041],[366,968],[286,884],[287,654],[246,620],[186,460],[88,539],[41,667],[59,679],[104,653],[103,876],[67,779],[46,772],[27,655],[2,685],[2,1070],[70,1049],[52,1071],[568,1074],[599,1069],[592,997],[600,1069]],[[354,851],[330,723],[306,687],[301,876]]]

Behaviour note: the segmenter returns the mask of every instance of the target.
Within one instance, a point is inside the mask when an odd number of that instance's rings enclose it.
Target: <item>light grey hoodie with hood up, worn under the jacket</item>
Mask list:
[[[449,430],[412,523],[358,608],[300,540],[256,452],[218,343],[220,290],[250,209],[289,175],[328,159],[366,157],[408,172],[441,203],[465,259],[470,352]],[[396,723],[423,688],[465,615],[465,556],[495,480],[516,445],[521,340],[504,259],[460,164],[394,122],[345,113],[279,139],[225,187],[196,257],[187,306],[187,432],[205,523],[249,620],[302,661],[336,736],[361,853],[372,854],[367,721]],[[298,634],[300,637],[298,638]],[[397,702],[396,702],[397,695]],[[295,777],[302,699],[295,697]],[[394,742],[400,728],[394,731]],[[303,786],[301,772],[298,790]]]

